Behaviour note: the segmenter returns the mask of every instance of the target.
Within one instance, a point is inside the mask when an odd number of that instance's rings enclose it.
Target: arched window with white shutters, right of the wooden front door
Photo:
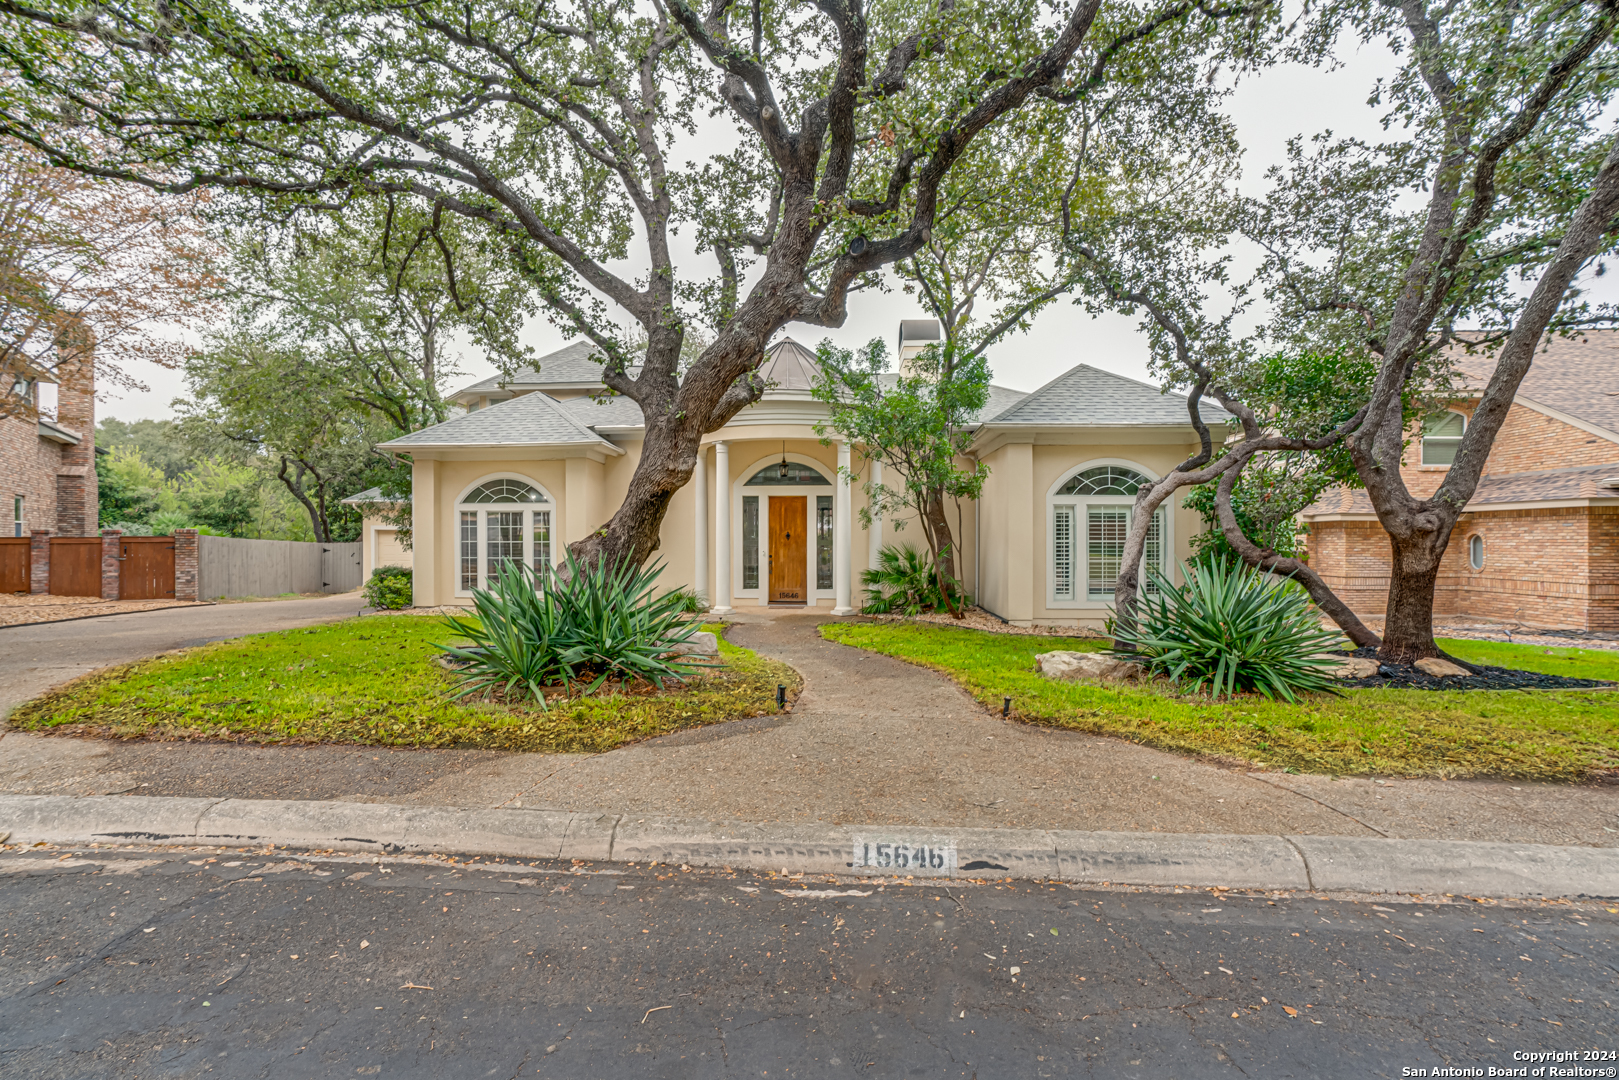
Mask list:
[[[1109,601],[1124,563],[1135,492],[1151,483],[1124,465],[1098,465],[1072,476],[1051,497],[1051,594],[1059,604]],[[1141,575],[1164,570],[1164,510],[1153,513]],[[1154,586],[1148,580],[1148,589]]]

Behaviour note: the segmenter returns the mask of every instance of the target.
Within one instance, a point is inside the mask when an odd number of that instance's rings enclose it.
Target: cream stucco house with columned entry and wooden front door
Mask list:
[[[937,340],[937,324],[902,324],[900,361]],[[861,483],[881,466],[861,447],[822,445],[827,416],[811,395],[814,353],[790,338],[761,368],[769,389],[704,437],[699,466],[669,507],[657,552],[670,588],[714,610],[811,606],[850,614],[881,544],[923,546],[920,529],[866,529]],[[414,597],[468,604],[502,559],[555,565],[563,546],[618,507],[641,453],[641,411],[601,400],[601,364],[584,343],[534,371],[453,395],[468,408],[384,449],[413,461]],[[1224,413],[1205,408],[1216,436]],[[971,455],[989,466],[983,499],[950,507],[958,573],[988,610],[1013,623],[1099,625],[1137,484],[1196,447],[1185,398],[1078,364],[1033,393],[994,387]],[[839,479],[853,470],[853,484]],[[376,528],[369,523],[368,528]],[[1164,507],[1151,559],[1175,575],[1196,513]],[[368,567],[384,559],[379,538]],[[392,552],[390,552],[392,554]]]

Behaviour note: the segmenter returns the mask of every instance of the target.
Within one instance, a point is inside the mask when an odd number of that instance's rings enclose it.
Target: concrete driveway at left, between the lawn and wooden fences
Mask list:
[[[337,622],[356,615],[359,606],[359,593],[340,593],[0,627],[0,719],[23,701],[99,667],[223,638]]]

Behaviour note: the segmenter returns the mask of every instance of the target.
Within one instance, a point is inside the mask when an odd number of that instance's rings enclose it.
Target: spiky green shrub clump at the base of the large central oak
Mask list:
[[[474,619],[450,615],[468,646],[444,646],[460,661],[457,698],[500,691],[546,708],[546,688],[594,693],[609,680],[680,682],[701,661],[667,657],[701,622],[678,593],[656,596],[662,567],[581,567],[541,581],[533,568],[507,562],[491,588],[473,589]]]

